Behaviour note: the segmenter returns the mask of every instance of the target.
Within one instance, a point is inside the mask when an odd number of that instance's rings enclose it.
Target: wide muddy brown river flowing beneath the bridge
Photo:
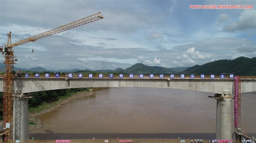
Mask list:
[[[164,88],[94,92],[39,115],[44,127],[30,131],[30,138],[215,138],[216,100],[208,98],[213,93]],[[254,136],[255,103],[256,92],[241,95],[241,131]]]

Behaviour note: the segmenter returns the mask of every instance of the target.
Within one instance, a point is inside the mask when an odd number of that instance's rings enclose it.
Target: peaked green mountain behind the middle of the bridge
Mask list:
[[[134,64],[133,66],[123,70],[126,73],[175,73],[176,71],[171,70],[169,68],[164,68],[160,66],[146,66],[141,63]]]

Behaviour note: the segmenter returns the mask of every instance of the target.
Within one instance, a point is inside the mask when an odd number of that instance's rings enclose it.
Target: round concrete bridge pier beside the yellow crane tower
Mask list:
[[[28,95],[13,98],[13,140],[28,140]]]

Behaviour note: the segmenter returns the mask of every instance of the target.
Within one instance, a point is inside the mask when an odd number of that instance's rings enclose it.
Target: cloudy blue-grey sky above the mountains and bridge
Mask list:
[[[190,9],[189,5],[253,5],[253,9]],[[19,60],[15,66],[20,68],[126,69],[136,63],[171,68],[256,57],[254,0],[1,0],[0,8],[1,45],[9,31],[61,26],[98,12],[104,16],[82,28],[14,47]],[[48,30],[12,33],[12,42]]]

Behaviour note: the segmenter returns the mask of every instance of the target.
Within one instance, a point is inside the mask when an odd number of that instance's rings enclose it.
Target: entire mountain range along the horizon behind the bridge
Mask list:
[[[0,70],[5,71],[5,65],[3,63],[0,63]],[[14,67],[13,70],[21,70],[21,71],[51,71],[51,72],[75,72],[75,71],[91,71],[88,69],[85,70],[79,70],[79,69],[72,69],[72,70],[47,70],[42,67],[35,67],[30,69],[24,69],[24,68],[17,68]],[[134,64],[133,66],[122,69],[117,68],[115,70],[96,70],[95,72],[100,73],[108,73],[108,72],[120,72],[120,73],[133,73],[133,74],[139,74],[139,73],[175,73],[176,75],[179,74],[234,74],[234,75],[256,75],[256,57],[253,58],[247,58],[247,57],[238,57],[234,60],[216,60],[213,62],[209,62],[206,64],[203,64],[201,66],[195,65],[192,67],[177,67],[177,68],[164,68],[160,66],[147,66],[141,63]]]

